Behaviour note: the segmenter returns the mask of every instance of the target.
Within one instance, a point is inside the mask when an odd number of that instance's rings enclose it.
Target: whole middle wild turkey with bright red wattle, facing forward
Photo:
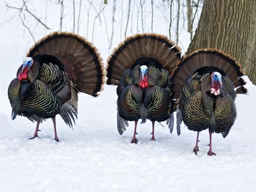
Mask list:
[[[168,120],[171,127],[169,74],[180,62],[180,52],[164,35],[136,34],[124,39],[107,58],[107,84],[118,85],[117,129],[122,135],[127,121],[135,121],[132,143],[137,143],[140,118],[142,123],[152,121],[152,140],[155,121]]]

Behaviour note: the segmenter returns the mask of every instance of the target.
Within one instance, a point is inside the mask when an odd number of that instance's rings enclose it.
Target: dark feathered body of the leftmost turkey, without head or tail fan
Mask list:
[[[35,116],[53,118],[60,112],[61,106],[71,99],[71,89],[74,90],[74,87],[70,85],[70,77],[59,59],[52,55],[37,55],[33,60],[27,80],[19,81],[15,78],[9,85],[8,95],[14,109],[13,118],[16,114],[29,119],[34,119]],[[12,90],[17,90],[16,94]]]

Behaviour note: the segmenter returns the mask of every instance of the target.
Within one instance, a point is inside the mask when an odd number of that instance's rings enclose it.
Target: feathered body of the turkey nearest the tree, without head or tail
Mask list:
[[[189,130],[212,132],[227,136],[235,122],[234,85],[227,76],[222,75],[221,94],[211,94],[211,74],[193,74],[186,81],[179,101],[182,119]]]

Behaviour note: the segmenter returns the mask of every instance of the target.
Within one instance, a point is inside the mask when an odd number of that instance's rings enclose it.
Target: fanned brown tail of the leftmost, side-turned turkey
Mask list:
[[[87,39],[71,32],[52,32],[37,41],[27,57],[54,55],[62,61],[80,92],[96,97],[104,84],[103,59]]]

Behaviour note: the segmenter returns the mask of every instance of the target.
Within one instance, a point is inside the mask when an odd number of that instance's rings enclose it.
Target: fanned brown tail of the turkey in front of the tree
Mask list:
[[[246,94],[247,89],[242,85],[246,82],[242,79],[244,72],[241,65],[230,55],[219,49],[198,49],[186,57],[176,66],[171,75],[170,81],[173,84],[173,99],[178,99],[186,79],[197,69],[202,67],[217,67],[225,72],[237,88],[237,94]]]

